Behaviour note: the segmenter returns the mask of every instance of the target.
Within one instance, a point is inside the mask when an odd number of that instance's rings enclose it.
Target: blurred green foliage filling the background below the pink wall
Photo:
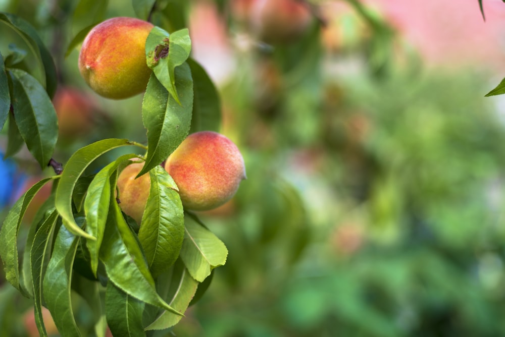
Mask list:
[[[62,2],[62,17],[72,3]],[[106,17],[134,16],[120,3]],[[19,4],[0,8],[42,33],[61,23],[44,2]],[[337,51],[325,49],[318,25],[289,45],[235,51],[236,71],[220,87],[223,129],[248,179],[232,202],[200,214],[229,255],[176,335],[505,335],[496,100],[482,97],[480,73],[428,70],[393,52],[387,23],[349,4],[355,40]],[[76,57],[64,63],[65,81],[82,86]],[[142,141],[139,97],[98,100],[110,120],[95,136]],[[9,286],[2,298],[0,334],[22,335],[29,302]],[[89,310],[81,313],[85,325]]]

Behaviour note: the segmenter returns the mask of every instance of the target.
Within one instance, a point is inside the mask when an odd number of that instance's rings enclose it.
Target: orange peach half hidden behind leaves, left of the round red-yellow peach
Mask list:
[[[118,177],[118,198],[119,207],[131,216],[138,224],[142,220],[144,208],[149,197],[151,179],[149,174],[142,175],[135,179],[142,167],[143,162],[136,162],[124,168]]]

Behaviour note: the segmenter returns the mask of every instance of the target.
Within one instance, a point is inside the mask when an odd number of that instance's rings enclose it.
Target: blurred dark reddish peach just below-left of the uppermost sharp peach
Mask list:
[[[82,91],[63,87],[53,99],[58,115],[60,138],[67,141],[86,135],[93,127],[92,114],[95,109],[91,97]]]

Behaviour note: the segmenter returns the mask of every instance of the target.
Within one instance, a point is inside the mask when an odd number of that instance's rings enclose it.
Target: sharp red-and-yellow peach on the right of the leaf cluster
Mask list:
[[[224,204],[245,179],[244,159],[237,146],[212,131],[190,134],[168,157],[165,170],[177,184],[183,206],[191,210]]]

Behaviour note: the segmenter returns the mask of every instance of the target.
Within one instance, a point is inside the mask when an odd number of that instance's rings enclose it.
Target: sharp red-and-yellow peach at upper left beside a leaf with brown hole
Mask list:
[[[91,29],[79,53],[79,71],[99,95],[122,99],[145,90],[151,70],[145,40],[153,24],[136,18],[108,19]]]

